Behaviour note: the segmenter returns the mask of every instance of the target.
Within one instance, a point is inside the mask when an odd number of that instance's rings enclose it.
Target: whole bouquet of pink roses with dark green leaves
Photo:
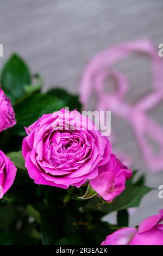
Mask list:
[[[11,56],[0,89],[0,244],[163,245],[162,211],[127,227],[128,209],[151,191],[143,176],[117,159],[77,95],[41,87]],[[117,223],[104,222],[114,211]]]

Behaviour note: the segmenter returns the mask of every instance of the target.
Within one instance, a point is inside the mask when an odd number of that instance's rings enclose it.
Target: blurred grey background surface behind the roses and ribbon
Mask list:
[[[158,47],[163,43],[162,24],[162,0],[1,0],[0,43],[4,57],[0,58],[0,68],[12,52],[17,52],[33,72],[43,76],[44,90],[57,85],[78,93],[85,65],[96,53],[141,38],[151,39]],[[116,68],[131,84],[128,102],[134,103],[152,90],[148,58],[131,54]],[[163,102],[150,115],[163,125],[162,113]],[[163,169],[160,173],[149,172],[128,124],[112,116],[111,128],[117,136],[115,149],[130,153],[133,167],[146,172],[147,185],[156,187],[131,215],[130,225],[137,225],[163,207],[163,199],[158,198]],[[114,221],[114,217],[107,220]]]

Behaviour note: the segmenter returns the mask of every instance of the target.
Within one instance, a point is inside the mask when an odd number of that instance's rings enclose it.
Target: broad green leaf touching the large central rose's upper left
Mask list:
[[[64,101],[47,94],[35,94],[15,105],[17,124],[11,129],[16,135],[26,136],[28,127],[43,114],[53,113],[64,107]]]

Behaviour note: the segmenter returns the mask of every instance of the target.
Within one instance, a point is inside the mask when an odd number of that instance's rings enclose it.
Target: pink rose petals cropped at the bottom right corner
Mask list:
[[[163,245],[163,210],[143,220],[139,228],[122,228],[106,237],[102,245]]]

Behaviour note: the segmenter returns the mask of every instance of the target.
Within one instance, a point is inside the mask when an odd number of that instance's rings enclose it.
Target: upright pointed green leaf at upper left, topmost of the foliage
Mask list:
[[[1,72],[1,84],[5,94],[12,103],[24,94],[24,86],[31,83],[31,74],[28,66],[17,54],[7,60]]]

